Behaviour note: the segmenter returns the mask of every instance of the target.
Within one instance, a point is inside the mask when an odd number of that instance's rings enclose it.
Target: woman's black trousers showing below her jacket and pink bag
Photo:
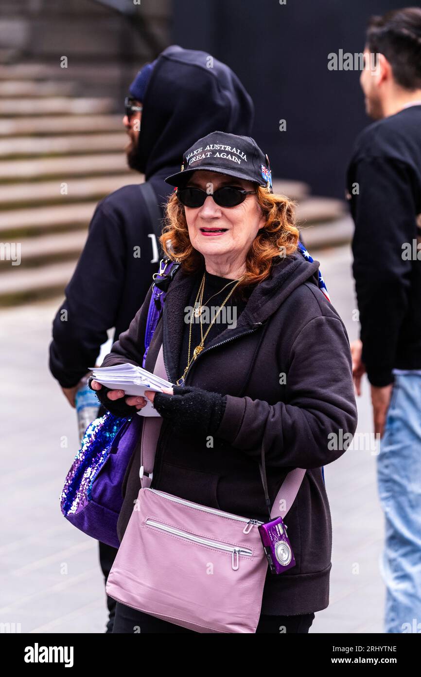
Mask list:
[[[314,621],[314,613],[303,616],[266,616],[261,615],[257,625],[256,634],[307,634],[309,627]],[[176,626],[168,621],[162,621],[142,611],[117,602],[116,617],[114,619],[113,634],[166,634],[168,632],[195,632],[181,626]]]

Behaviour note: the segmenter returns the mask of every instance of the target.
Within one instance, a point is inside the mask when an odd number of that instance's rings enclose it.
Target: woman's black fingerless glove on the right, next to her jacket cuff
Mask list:
[[[215,433],[224,415],[225,395],[189,386],[176,385],[172,389],[174,395],[155,394],[153,406],[158,414],[176,426]]]

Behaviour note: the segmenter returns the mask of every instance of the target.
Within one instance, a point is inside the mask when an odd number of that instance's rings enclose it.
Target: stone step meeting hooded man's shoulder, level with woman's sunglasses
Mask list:
[[[8,183],[0,185],[0,210],[9,206],[36,204],[66,204],[78,200],[98,200],[99,198],[122,188],[127,183],[137,183],[138,175],[133,181],[127,175],[111,175],[87,179],[70,179],[63,181],[36,181],[32,183]],[[60,193],[61,183],[66,183],[67,194]]]

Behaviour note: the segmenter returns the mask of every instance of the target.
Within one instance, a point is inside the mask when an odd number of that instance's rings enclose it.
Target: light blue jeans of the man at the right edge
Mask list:
[[[377,457],[385,632],[421,632],[421,374],[395,374]]]

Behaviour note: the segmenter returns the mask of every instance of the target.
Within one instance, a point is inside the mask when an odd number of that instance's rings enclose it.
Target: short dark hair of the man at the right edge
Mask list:
[[[383,54],[393,78],[405,89],[421,87],[421,7],[394,9],[368,22],[366,46]]]

